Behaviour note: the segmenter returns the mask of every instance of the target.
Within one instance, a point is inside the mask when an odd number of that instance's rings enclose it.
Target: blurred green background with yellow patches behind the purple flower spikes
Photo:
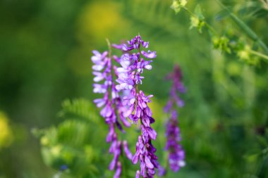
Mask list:
[[[268,44],[266,1],[224,1]],[[187,93],[178,110],[186,167],[166,177],[268,177],[267,61],[250,65],[213,49],[207,30],[189,30],[190,16],[163,0],[0,1],[0,177],[112,177],[107,171],[107,126],[92,100],[92,50],[135,37],[157,51],[142,89],[154,94],[159,133],[155,144],[166,165],[162,112],[175,63]],[[200,4],[222,34],[254,45],[239,27],[219,18],[221,6]],[[260,11],[255,15],[255,11]],[[63,102],[64,101],[64,102]],[[125,136],[135,151],[135,126]],[[124,136],[123,136],[124,137]],[[104,155],[104,156],[103,156]],[[104,159],[106,158],[106,159]],[[127,161],[126,161],[127,162]],[[125,163],[123,177],[134,177]]]

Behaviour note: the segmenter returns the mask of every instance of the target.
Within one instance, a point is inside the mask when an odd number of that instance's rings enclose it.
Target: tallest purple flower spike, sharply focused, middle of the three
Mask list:
[[[133,156],[133,163],[140,160],[140,170],[136,172],[136,178],[154,177],[155,169],[159,167],[157,163],[156,148],[152,145],[152,140],[157,138],[157,132],[152,129],[154,122],[152,111],[147,106],[150,103],[152,95],[146,96],[143,91],[138,90],[138,84],[142,84],[142,72],[144,69],[151,70],[152,61],[145,61],[144,58],[155,58],[155,51],[140,51],[141,47],[148,48],[149,42],[144,42],[140,35],[134,37],[128,44],[113,45],[114,48],[123,51],[123,55],[117,58],[121,68],[117,68],[118,78],[116,89],[118,91],[127,91],[128,95],[123,96],[123,105],[127,110],[123,113],[135,124],[140,120],[142,135],[138,137],[136,152]]]

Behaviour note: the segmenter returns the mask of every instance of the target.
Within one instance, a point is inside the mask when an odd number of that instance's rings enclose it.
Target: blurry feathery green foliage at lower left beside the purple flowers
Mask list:
[[[33,132],[40,139],[44,163],[55,170],[67,165],[74,177],[99,177],[105,161],[101,155],[106,154],[99,149],[104,128],[96,123],[101,118],[90,101],[82,98],[63,101],[62,107],[59,116],[63,122]],[[92,129],[92,125],[98,128]]]

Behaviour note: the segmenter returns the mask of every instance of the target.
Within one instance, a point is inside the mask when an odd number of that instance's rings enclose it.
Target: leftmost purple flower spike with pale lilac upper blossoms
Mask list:
[[[95,99],[94,103],[96,103],[98,108],[102,108],[100,115],[104,117],[105,122],[109,125],[109,133],[106,136],[106,141],[111,143],[109,153],[114,155],[114,158],[111,160],[109,165],[109,169],[116,169],[114,178],[119,178],[121,174],[121,162],[119,161],[121,150],[126,153],[126,157],[130,160],[133,155],[128,149],[127,142],[122,142],[118,139],[116,128],[124,132],[121,123],[123,123],[126,127],[130,127],[130,123],[126,120],[126,117],[123,117],[123,113],[126,111],[126,108],[123,106],[122,100],[113,81],[113,71],[116,70],[116,66],[114,66],[114,68],[112,67],[111,57],[107,56],[107,51],[104,51],[104,53],[99,53],[98,51],[92,52],[94,54],[91,58],[94,63],[92,69],[94,70],[93,75],[95,75],[93,80],[96,82],[93,84],[93,92],[104,94],[103,98]],[[116,75],[116,72],[114,73],[114,75]],[[99,82],[102,80],[104,80],[104,82],[100,84]],[[121,122],[119,122],[119,120]]]

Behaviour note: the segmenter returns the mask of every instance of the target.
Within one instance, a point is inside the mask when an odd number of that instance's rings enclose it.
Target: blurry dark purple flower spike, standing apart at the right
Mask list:
[[[171,170],[177,172],[181,167],[185,166],[185,152],[179,144],[181,141],[181,133],[178,128],[178,114],[175,108],[173,108],[174,104],[179,107],[184,105],[183,101],[177,94],[178,92],[185,92],[185,87],[181,82],[181,69],[178,65],[176,65],[173,72],[167,76],[167,79],[173,80],[173,86],[171,87],[169,101],[164,108],[164,112],[171,114],[166,125],[167,141],[165,149],[169,151],[169,166]]]

